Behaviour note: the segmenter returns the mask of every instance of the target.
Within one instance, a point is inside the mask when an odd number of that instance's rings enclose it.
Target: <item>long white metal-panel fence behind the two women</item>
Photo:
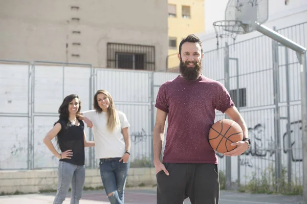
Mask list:
[[[160,85],[175,73],[98,69],[91,64],[0,61],[2,126],[0,169],[55,168],[58,159],[42,140],[58,119],[63,98],[77,94],[81,111],[93,108],[98,89],[108,90],[131,125],[131,167],[152,166],[153,107]],[[91,128],[85,128],[93,140]],[[53,141],[55,144],[55,140]],[[96,168],[94,148],[86,148],[85,165]]]

